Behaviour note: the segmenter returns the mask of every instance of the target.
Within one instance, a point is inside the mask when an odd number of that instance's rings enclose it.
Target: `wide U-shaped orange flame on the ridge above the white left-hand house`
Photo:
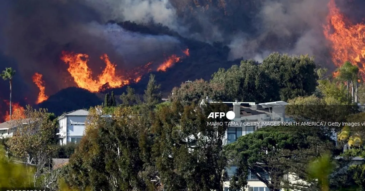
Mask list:
[[[87,89],[91,92],[98,92],[105,84],[108,84],[108,87],[111,88],[129,84],[129,80],[116,75],[116,65],[110,62],[109,57],[106,54],[100,57],[104,60],[106,67],[104,71],[97,76],[97,80],[93,80],[92,71],[87,65],[89,60],[88,57],[87,54],[75,54],[62,51],[61,60],[69,64],[67,71],[71,74],[78,87]]]

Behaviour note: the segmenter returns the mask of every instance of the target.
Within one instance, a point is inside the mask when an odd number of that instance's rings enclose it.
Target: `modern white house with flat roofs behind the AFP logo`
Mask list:
[[[223,139],[223,145],[233,143],[240,136],[253,133],[254,131],[269,126],[270,123],[279,124],[281,122],[291,121],[291,118],[285,116],[285,106],[288,103],[283,101],[258,103],[255,102],[216,102],[208,97],[203,99],[200,105],[205,103],[223,103],[231,107],[235,117],[232,122],[238,122],[238,126],[228,126],[226,134]],[[233,123],[234,124],[234,123]],[[228,177],[234,175],[237,166],[230,166],[226,168]],[[259,172],[260,173],[260,172]],[[269,178],[266,172],[262,172],[263,176]],[[229,180],[224,182],[224,191],[229,191]],[[247,177],[246,191],[269,191],[266,185],[258,180],[253,174],[249,173]]]

